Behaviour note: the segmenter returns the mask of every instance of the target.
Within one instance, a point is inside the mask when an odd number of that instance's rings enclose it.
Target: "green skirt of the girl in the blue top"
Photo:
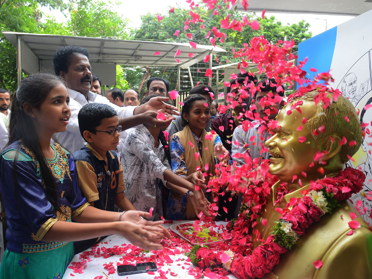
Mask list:
[[[1,260],[0,279],[60,279],[73,257],[73,242],[35,253],[15,253],[5,250]]]

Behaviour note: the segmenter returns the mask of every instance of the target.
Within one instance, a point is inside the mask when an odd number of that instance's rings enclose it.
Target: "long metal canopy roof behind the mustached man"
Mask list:
[[[53,60],[57,48],[77,44],[90,53],[90,62],[116,63],[120,65],[141,66],[177,66],[187,68],[204,59],[205,55],[225,52],[225,49],[209,45],[196,45],[196,49],[187,44],[172,42],[126,41],[117,39],[87,38],[78,36],[62,36],[32,33],[1,32],[13,45],[17,46],[17,37],[28,47],[39,61]],[[180,63],[174,58],[176,51]],[[160,55],[154,55],[155,51]],[[190,58],[189,52],[194,57]]]

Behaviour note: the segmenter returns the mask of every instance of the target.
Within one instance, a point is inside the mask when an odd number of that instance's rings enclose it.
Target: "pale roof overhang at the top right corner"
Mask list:
[[[231,10],[245,11],[241,0]],[[247,12],[310,13],[358,16],[372,10],[372,0],[249,0]]]

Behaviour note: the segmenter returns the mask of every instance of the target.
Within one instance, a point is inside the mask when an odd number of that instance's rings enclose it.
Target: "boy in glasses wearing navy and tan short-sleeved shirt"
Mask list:
[[[87,144],[74,153],[78,184],[91,206],[106,211],[115,211],[115,205],[123,212],[136,210],[124,194],[123,167],[116,155],[119,132],[115,109],[106,104],[90,103],[78,113],[80,134]],[[170,237],[162,227],[159,239]],[[102,238],[76,241],[75,254],[86,250]]]

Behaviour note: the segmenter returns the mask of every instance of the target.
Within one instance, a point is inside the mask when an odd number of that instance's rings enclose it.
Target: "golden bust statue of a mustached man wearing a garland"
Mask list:
[[[333,93],[327,93],[331,104],[324,109],[324,103],[314,102],[318,91],[291,99],[277,116],[278,127],[273,136],[265,142],[270,158],[271,174],[280,181],[271,188],[267,205],[260,217],[267,219],[267,225],[257,225],[260,238],[265,241],[270,235],[280,214],[275,208],[284,208],[292,197],[301,197],[301,191],[309,187],[311,180],[324,176],[335,176],[343,165],[359,149],[362,132],[354,106],[346,97],[333,100]],[[305,119],[306,118],[306,119]],[[346,138],[347,143],[344,143]],[[300,140],[299,140],[300,139]],[[352,144],[349,144],[352,142]],[[317,161],[314,155],[321,154]],[[300,181],[301,180],[301,181]],[[293,192],[285,195],[274,206],[276,188],[286,182]],[[361,224],[352,235],[348,222],[355,206],[342,202],[342,208],[324,215],[301,236],[295,246],[280,256],[280,262],[264,278],[280,279],[331,279],[372,278],[372,231],[359,214],[355,219]],[[253,242],[256,248],[262,242]],[[316,269],[313,262],[321,260],[323,265]]]

